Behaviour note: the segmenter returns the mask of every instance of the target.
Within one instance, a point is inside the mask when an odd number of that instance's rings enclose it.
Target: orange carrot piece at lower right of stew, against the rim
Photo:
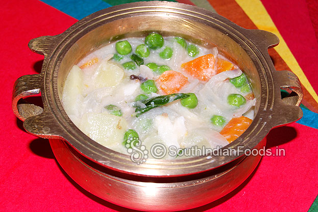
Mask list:
[[[252,119],[245,116],[232,118],[230,122],[223,128],[220,134],[223,135],[229,143],[231,143],[240,135],[242,135],[246,129],[248,129],[252,121]]]

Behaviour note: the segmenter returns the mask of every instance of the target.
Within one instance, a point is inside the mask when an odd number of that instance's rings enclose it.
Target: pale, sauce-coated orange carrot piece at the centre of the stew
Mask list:
[[[156,80],[157,85],[166,94],[175,94],[188,83],[188,78],[176,71],[165,71]]]

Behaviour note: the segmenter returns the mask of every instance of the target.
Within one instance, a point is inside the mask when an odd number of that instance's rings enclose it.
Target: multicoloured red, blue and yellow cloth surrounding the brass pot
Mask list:
[[[103,201],[80,188],[53,160],[47,140],[23,132],[11,110],[14,81],[35,74],[43,57],[29,51],[30,39],[56,35],[101,9],[134,0],[13,0],[2,4],[0,105],[3,141],[0,211],[133,211]],[[318,2],[316,0],[177,0],[216,12],[236,24],[276,34],[269,50],[277,70],[295,73],[304,90],[303,118],[268,134],[267,148],[286,157],[263,157],[239,188],[189,211],[318,211]],[[43,4],[44,3],[44,4]],[[18,54],[17,58],[16,54]],[[13,65],[12,65],[13,64]],[[21,65],[21,66],[20,66]],[[23,66],[22,66],[23,65]],[[5,68],[4,68],[5,67]],[[6,88],[5,88],[6,87]],[[9,87],[9,90],[8,90]],[[6,119],[5,119],[6,118]],[[7,141],[7,142],[5,142]],[[272,198],[271,198],[272,197]],[[132,196],[133,198],[133,196]]]

